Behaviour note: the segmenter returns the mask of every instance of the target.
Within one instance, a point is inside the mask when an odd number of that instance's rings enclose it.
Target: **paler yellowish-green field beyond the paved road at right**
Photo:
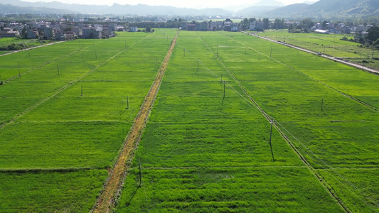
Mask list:
[[[379,61],[374,59],[379,58],[379,50],[361,48],[360,43],[341,40],[343,37],[353,38],[351,34],[289,33],[285,30],[269,30],[257,35],[379,69]]]

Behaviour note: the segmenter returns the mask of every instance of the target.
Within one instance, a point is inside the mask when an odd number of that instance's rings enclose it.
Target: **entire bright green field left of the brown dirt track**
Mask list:
[[[0,212],[88,212],[169,45],[122,33],[2,56]]]

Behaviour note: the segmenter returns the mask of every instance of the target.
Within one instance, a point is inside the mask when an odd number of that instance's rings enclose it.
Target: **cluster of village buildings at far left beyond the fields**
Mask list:
[[[43,38],[70,40],[74,38],[111,38],[122,28],[116,23],[85,24],[76,22],[29,21],[21,23],[0,23],[0,37]]]

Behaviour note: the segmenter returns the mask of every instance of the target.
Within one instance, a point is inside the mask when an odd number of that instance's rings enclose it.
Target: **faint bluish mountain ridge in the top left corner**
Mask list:
[[[46,7],[33,7],[33,6],[14,6],[10,4],[0,4],[0,13],[73,13],[73,11],[63,9],[50,9]]]

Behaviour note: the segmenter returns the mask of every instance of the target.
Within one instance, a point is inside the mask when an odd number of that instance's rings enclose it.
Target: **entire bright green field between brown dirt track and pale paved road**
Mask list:
[[[253,36],[182,31],[117,212],[378,210],[377,82]],[[269,121],[238,84],[307,163],[276,130],[272,162]]]

